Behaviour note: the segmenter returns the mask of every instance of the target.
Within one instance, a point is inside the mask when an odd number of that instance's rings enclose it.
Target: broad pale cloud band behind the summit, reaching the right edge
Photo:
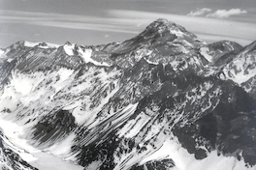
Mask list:
[[[222,20],[213,17],[191,17],[179,14],[125,10],[112,10],[109,14],[112,17],[129,20],[130,25],[141,23],[141,29],[144,29],[145,26],[157,18],[167,18],[170,21],[174,21],[177,24],[184,26],[188,31],[196,33],[196,35],[199,35],[199,38],[208,42],[215,42],[217,40],[236,40],[242,45],[245,45],[256,40],[255,23]],[[204,37],[202,35],[204,35]]]

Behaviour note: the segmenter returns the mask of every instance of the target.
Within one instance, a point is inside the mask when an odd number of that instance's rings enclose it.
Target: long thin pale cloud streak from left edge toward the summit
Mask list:
[[[0,22],[127,34],[138,33],[135,28],[127,27],[127,24],[130,23],[129,19],[77,14],[44,14],[0,10]]]

